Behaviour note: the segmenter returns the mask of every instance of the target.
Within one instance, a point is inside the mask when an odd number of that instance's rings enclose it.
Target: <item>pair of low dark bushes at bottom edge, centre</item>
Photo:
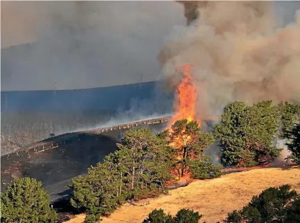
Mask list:
[[[185,208],[179,210],[175,217],[167,215],[163,209],[155,209],[142,223],[197,223],[201,217],[198,212]]]

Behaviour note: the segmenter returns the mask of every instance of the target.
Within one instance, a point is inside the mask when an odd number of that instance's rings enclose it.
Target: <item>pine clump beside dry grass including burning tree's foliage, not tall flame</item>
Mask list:
[[[177,121],[171,132],[156,135],[143,128],[128,130],[116,152],[89,168],[87,175],[72,180],[71,204],[88,213],[86,222],[93,222],[123,202],[165,193],[167,183],[173,180],[174,168],[186,172],[191,165],[204,178],[216,176],[219,169],[197,168],[197,163],[193,163],[208,160],[204,149],[213,141],[212,134],[202,133],[196,122],[186,120]]]

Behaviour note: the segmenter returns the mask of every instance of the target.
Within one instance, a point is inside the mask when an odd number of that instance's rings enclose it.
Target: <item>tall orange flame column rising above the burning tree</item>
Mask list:
[[[184,78],[177,87],[177,102],[175,102],[175,115],[172,117],[168,129],[177,121],[187,119],[188,122],[195,120],[196,109],[195,104],[197,100],[197,87],[193,81],[193,77],[189,72],[193,66],[186,64],[179,67],[177,71],[182,71]]]

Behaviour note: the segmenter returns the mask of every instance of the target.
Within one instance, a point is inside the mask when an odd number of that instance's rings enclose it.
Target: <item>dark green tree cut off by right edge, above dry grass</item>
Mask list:
[[[300,123],[294,125],[288,134],[288,139],[290,139],[290,143],[287,143],[288,150],[291,152],[288,159],[300,165]]]

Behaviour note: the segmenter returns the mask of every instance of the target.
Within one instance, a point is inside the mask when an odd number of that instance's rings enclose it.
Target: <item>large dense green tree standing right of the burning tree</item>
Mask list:
[[[221,122],[214,127],[222,163],[255,166],[270,163],[281,149],[273,146],[279,130],[280,110],[271,100],[252,106],[231,102],[224,107]]]

